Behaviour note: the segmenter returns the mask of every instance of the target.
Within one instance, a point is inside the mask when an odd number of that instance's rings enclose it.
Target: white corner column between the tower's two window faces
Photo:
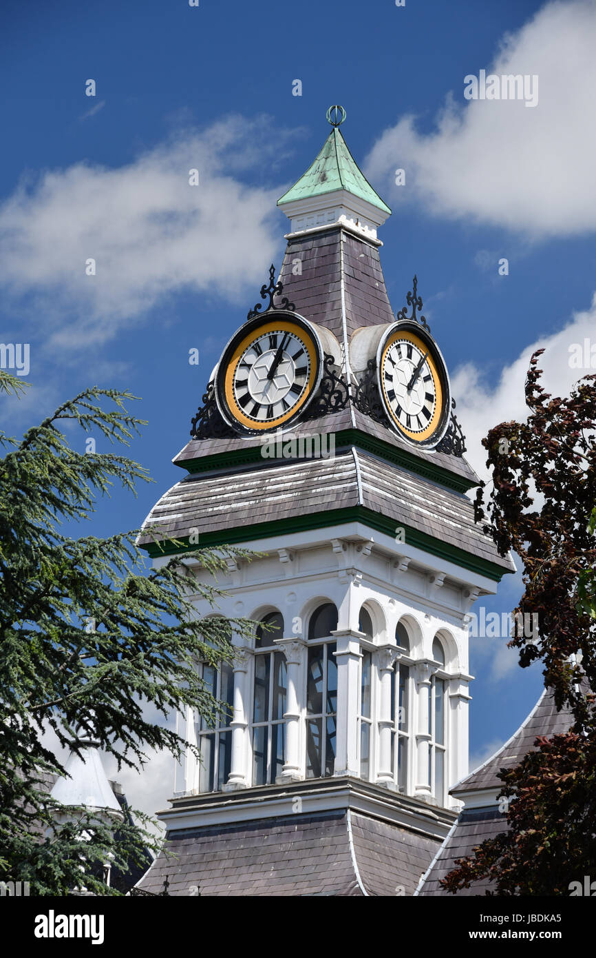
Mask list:
[[[360,640],[364,632],[337,629],[338,714],[334,775],[360,775],[358,716],[360,712]]]

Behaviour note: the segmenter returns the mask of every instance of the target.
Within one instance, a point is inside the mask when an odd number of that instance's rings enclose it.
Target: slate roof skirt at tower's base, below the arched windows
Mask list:
[[[412,895],[438,841],[349,810],[169,833],[139,886],[170,895]],[[175,855],[173,857],[172,855]]]

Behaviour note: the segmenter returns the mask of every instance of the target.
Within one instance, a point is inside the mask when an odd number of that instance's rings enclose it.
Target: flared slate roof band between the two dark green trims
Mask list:
[[[396,526],[416,529],[511,570],[510,559],[498,555],[493,540],[475,524],[472,502],[460,492],[443,489],[356,448],[330,459],[272,463],[235,474],[189,475],[162,496],[144,524],[158,528],[164,538],[182,538],[190,530],[204,536],[363,506],[387,516]],[[141,544],[150,541],[150,536],[140,538]]]

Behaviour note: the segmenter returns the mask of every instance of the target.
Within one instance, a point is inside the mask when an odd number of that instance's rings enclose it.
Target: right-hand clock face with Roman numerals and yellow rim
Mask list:
[[[380,348],[380,392],[389,421],[410,442],[436,445],[445,432],[449,379],[438,349],[406,324]]]

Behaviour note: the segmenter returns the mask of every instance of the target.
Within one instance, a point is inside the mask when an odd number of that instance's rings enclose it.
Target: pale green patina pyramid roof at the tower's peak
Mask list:
[[[347,190],[384,213],[391,212],[372,189],[364,173],[359,170],[337,126],[331,130],[315,162],[300,176],[298,182],[277,200],[277,206],[296,199],[332,193],[334,190]]]

